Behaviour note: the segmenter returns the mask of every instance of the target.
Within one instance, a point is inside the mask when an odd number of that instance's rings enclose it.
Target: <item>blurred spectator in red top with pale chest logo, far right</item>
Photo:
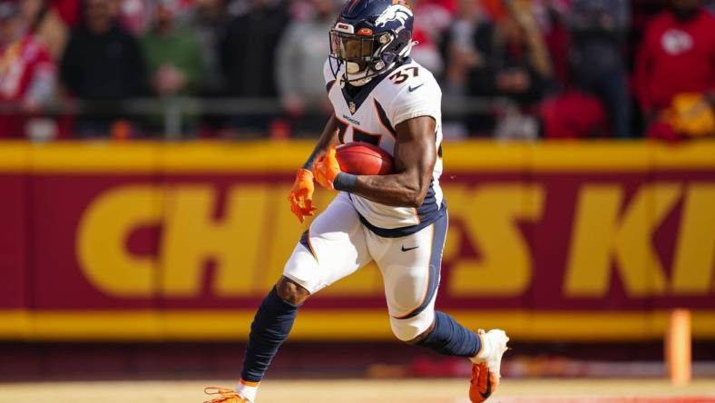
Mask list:
[[[635,84],[650,134],[669,137],[662,113],[679,97],[715,93],[715,17],[700,0],[672,0],[649,25],[638,54]],[[678,104],[683,104],[679,102]],[[679,124],[675,124],[678,126]],[[671,133],[670,136],[672,136]]]

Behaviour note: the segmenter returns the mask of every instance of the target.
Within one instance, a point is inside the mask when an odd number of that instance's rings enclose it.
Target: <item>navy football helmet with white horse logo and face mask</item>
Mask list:
[[[414,16],[406,0],[348,0],[330,30],[330,67],[352,85],[367,84],[403,62]]]

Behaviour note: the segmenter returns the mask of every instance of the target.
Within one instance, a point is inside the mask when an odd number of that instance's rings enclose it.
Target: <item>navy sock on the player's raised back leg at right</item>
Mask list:
[[[417,346],[434,349],[440,354],[457,357],[474,357],[482,341],[475,332],[466,329],[444,312],[435,312],[435,329]]]

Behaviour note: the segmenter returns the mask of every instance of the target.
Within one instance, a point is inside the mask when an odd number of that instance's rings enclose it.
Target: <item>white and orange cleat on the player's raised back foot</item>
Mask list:
[[[502,356],[509,338],[504,330],[478,331],[482,350],[472,358],[472,380],[469,383],[469,399],[481,403],[492,396],[502,378]]]

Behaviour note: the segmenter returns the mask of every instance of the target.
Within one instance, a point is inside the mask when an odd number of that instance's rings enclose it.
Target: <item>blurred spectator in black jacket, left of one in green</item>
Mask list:
[[[73,96],[101,101],[103,110],[77,119],[81,136],[107,136],[124,119],[107,102],[145,96],[147,68],[139,42],[117,24],[113,0],[86,0],[83,24],[75,28],[64,50],[60,75]]]

